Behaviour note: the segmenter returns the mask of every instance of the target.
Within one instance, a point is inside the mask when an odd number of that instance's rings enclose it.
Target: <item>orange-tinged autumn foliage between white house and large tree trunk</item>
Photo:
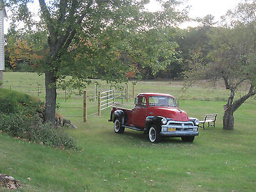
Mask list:
[[[47,49],[47,38],[43,31],[28,33],[10,28],[5,35],[4,65],[13,71],[41,72]]]

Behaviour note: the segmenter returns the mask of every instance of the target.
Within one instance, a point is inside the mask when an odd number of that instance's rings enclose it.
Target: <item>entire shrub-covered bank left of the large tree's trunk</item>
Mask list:
[[[36,118],[42,113],[43,103],[18,92],[0,90],[0,130],[11,136],[35,141],[51,147],[77,148],[76,141],[61,128],[45,124]],[[19,96],[19,97],[18,97]]]

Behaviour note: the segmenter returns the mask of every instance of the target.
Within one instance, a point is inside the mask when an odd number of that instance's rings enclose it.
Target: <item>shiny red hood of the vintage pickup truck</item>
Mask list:
[[[189,121],[188,115],[185,111],[179,108],[169,106],[154,106],[149,107],[149,114],[154,116],[170,117],[174,121]]]

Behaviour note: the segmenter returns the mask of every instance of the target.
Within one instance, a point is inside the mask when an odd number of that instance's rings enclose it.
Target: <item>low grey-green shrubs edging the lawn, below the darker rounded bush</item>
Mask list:
[[[51,147],[77,148],[76,141],[62,129],[55,129],[20,113],[0,115],[0,130],[14,136]]]

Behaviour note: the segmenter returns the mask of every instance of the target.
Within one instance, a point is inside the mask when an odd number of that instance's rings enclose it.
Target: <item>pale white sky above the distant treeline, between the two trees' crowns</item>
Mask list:
[[[243,2],[243,0],[187,0],[186,5],[191,6],[189,11],[189,17],[205,17],[206,15],[213,15],[215,21],[219,21],[222,15],[225,15],[227,10],[236,8],[238,3]],[[147,9],[154,12],[161,7],[156,0],[150,0]],[[182,24],[182,28],[188,26],[195,27],[196,24],[193,22]]]

